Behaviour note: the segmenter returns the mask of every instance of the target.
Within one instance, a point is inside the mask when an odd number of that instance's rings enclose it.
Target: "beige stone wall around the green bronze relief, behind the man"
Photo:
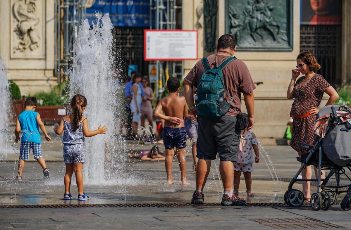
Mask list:
[[[206,0],[204,0],[206,1]],[[204,1],[189,0],[184,1],[183,14],[193,15],[191,19],[184,20],[184,29],[197,29],[198,33],[198,57],[201,59],[210,53],[206,52],[204,41]],[[348,83],[351,80],[350,72],[350,46],[351,46],[351,1],[342,1],[342,82]],[[208,1],[207,1],[208,2]],[[226,31],[226,15],[228,13],[227,1],[217,1],[217,27],[214,35],[216,40]],[[231,1],[245,2],[245,1]],[[246,1],[261,2],[261,1]],[[272,1],[266,1],[272,2]],[[289,1],[285,1],[289,2]],[[251,76],[257,89],[254,90],[255,96],[255,124],[253,132],[260,138],[282,138],[285,133],[286,124],[290,118],[289,112],[293,100],[286,99],[287,86],[291,79],[291,70],[296,66],[296,57],[300,53],[300,1],[293,0],[292,8],[292,36],[290,50],[257,50],[257,49],[238,49],[234,54],[238,59],[245,62],[250,70]],[[241,12],[242,13],[242,12]],[[214,51],[213,51],[214,52]],[[212,53],[213,53],[212,52]],[[191,70],[196,61],[185,61],[185,75]],[[261,83],[260,83],[261,82]],[[326,103],[326,95],[321,103]],[[245,111],[245,104],[242,101],[242,108]]]

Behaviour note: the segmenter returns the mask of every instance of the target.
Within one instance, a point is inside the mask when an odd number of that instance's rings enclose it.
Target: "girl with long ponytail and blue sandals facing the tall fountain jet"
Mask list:
[[[74,171],[75,181],[78,187],[78,200],[87,200],[88,196],[83,191],[83,164],[85,163],[84,136],[91,137],[97,134],[105,134],[106,126],[99,126],[97,130],[91,131],[88,128],[88,120],[83,117],[87,99],[77,94],[72,98],[72,114],[62,117],[60,125],[56,124],[54,131],[60,135],[65,131],[62,143],[64,143],[64,161],[66,164],[65,194],[64,199],[72,199],[70,192],[72,174]]]

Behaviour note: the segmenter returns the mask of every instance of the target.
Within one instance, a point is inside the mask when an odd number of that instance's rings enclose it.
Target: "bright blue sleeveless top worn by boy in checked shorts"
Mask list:
[[[35,142],[41,144],[37,115],[38,112],[33,110],[25,110],[18,115],[18,121],[22,129],[21,142]]]

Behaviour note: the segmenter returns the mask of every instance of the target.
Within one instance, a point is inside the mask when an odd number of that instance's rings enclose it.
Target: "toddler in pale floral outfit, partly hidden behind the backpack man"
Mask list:
[[[260,161],[258,140],[256,135],[246,129],[241,130],[241,139],[239,144],[239,152],[237,162],[234,162],[234,194],[239,194],[239,184],[241,172],[244,172],[246,195],[253,196],[251,193],[251,172],[253,171],[253,155],[252,149],[255,152],[255,162]]]

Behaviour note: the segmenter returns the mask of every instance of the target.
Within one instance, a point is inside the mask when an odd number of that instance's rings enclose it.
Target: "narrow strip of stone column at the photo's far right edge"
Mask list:
[[[351,1],[343,0],[342,8],[342,82],[351,81]]]

